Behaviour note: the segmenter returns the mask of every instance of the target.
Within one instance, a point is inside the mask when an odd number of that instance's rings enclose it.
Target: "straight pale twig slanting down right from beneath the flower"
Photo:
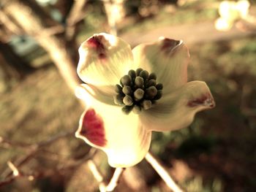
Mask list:
[[[167,170],[159,164],[156,158],[151,155],[151,153],[146,154],[146,161],[155,169],[155,171],[162,177],[162,180],[165,181],[166,185],[173,191],[173,192],[183,192],[181,187],[178,186],[177,183],[174,182],[170,174],[168,174]]]

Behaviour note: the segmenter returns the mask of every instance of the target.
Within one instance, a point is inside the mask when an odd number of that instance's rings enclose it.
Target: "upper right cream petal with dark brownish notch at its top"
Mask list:
[[[157,74],[164,94],[187,82],[189,51],[182,41],[161,37],[158,42],[138,45],[132,53],[141,68]]]

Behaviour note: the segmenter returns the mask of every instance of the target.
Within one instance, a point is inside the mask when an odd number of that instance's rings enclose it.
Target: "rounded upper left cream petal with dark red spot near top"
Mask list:
[[[94,34],[80,45],[78,75],[91,85],[116,85],[132,69],[127,42],[110,34]]]

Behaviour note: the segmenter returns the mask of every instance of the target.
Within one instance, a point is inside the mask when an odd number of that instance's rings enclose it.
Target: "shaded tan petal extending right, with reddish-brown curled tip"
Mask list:
[[[214,106],[206,83],[192,81],[159,99],[155,107],[142,112],[140,120],[150,131],[171,131],[189,126],[196,112]]]

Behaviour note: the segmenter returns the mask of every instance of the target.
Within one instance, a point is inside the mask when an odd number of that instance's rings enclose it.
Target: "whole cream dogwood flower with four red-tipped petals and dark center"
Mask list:
[[[214,107],[205,82],[187,82],[189,51],[159,38],[133,50],[123,39],[94,34],[80,45],[76,96],[86,101],[75,136],[108,155],[113,167],[138,164],[152,131],[189,126],[195,113]]]

